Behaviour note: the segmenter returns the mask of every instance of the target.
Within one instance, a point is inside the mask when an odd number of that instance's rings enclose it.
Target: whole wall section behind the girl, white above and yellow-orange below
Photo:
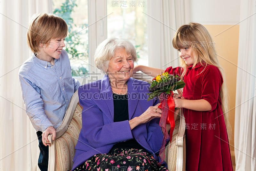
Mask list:
[[[235,169],[234,124],[236,102],[236,71],[238,57],[240,0],[191,0],[190,21],[203,24],[215,41],[221,66],[225,70],[230,99],[232,137],[229,137],[232,163]]]

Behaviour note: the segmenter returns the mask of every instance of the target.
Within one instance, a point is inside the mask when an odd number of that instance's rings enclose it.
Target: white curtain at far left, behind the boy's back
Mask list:
[[[51,0],[0,0],[0,170],[39,170],[36,132],[25,112],[18,71],[31,56],[28,21],[52,12]]]

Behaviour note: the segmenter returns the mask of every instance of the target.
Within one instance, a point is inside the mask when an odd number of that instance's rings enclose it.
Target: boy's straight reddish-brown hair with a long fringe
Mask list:
[[[54,14],[34,14],[27,31],[28,46],[37,54],[40,43],[48,46],[51,39],[65,38],[68,33],[67,23]]]

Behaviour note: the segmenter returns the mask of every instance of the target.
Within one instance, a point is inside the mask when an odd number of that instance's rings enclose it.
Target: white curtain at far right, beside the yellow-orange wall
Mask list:
[[[241,0],[236,77],[235,157],[237,171],[256,169],[256,5]]]

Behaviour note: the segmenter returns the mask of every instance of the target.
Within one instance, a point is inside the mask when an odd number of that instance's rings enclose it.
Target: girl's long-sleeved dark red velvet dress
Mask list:
[[[181,75],[182,68],[166,68],[165,72]],[[221,109],[220,70],[212,65],[188,67],[183,96],[188,100],[207,100],[210,111],[184,110],[186,121],[186,170],[231,171],[232,161],[228,135]]]

